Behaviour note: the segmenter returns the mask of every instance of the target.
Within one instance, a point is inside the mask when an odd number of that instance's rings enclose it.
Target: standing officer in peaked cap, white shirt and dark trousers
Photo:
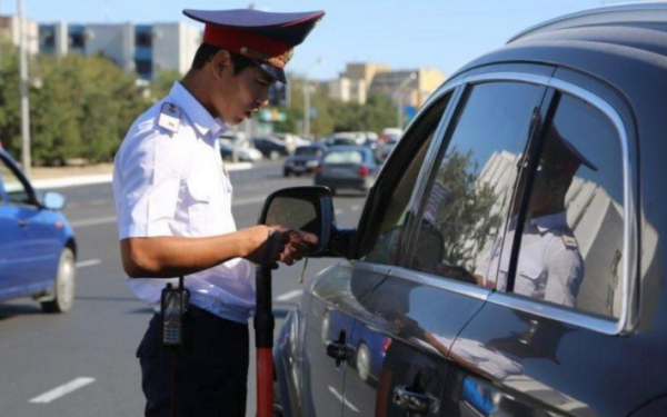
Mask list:
[[[137,356],[146,416],[245,416],[253,262],[291,265],[317,242],[280,227],[236,230],[217,138],[266,103],[272,82],[323,12],[197,11],[203,43],[182,81],[141,115],[115,160],[113,193],[128,284],[156,311],[186,276],[185,349],[162,346],[157,314]],[[175,46],[176,48],[176,46]],[[271,232],[276,245],[267,245]],[[273,250],[265,254],[268,247]]]

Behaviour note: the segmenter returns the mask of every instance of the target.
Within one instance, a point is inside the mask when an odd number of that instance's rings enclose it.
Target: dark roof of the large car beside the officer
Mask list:
[[[472,69],[517,63],[595,78],[631,103],[640,137],[643,127],[667,130],[667,98],[655,93],[667,91],[667,3],[606,7],[537,24],[469,62],[445,86]]]

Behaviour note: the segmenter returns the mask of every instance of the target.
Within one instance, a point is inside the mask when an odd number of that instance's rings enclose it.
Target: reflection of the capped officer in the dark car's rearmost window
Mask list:
[[[597,170],[551,126],[530,192],[517,265],[516,294],[575,306],[584,279],[584,260],[577,239],[567,224],[565,197],[581,165]],[[521,175],[519,181],[512,205],[512,219],[505,238],[506,246],[514,241],[516,216],[526,187],[526,176]],[[499,236],[492,248],[484,254],[475,271],[478,284],[500,290],[507,285],[511,252],[508,250],[509,246],[501,250],[502,240],[502,236]]]

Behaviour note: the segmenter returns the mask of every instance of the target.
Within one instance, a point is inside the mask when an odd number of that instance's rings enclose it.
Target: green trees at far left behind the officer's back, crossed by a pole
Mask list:
[[[3,46],[0,62],[0,138],[21,150],[19,63]],[[37,56],[30,59],[30,133],[34,165],[69,158],[110,161],[125,133],[148,106],[135,77],[103,57]]]

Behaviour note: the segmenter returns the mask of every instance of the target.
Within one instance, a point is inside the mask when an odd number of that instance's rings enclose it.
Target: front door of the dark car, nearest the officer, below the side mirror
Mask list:
[[[344,397],[345,374],[359,347],[351,339],[355,315],[360,301],[386,279],[390,266],[395,264],[399,235],[409,218],[406,210],[410,207],[409,201],[418,183],[417,176],[436,137],[447,100],[439,100],[429,107],[427,116],[417,122],[414,140],[406,141],[406,158],[397,159],[397,163],[409,165],[409,169],[388,170],[378,179],[378,183],[398,182],[398,186],[385,196],[385,200],[375,205],[384,207],[382,216],[377,216],[374,207],[365,208],[360,226],[374,225],[377,230],[366,235],[375,235],[369,239],[374,247],[372,255],[360,260],[344,261],[322,272],[309,290],[311,297],[302,348],[302,356],[308,360],[302,365],[305,371],[301,373],[303,416],[341,416],[347,411],[361,411],[354,403],[356,398],[350,400]],[[378,192],[385,191],[387,188]],[[382,228],[386,232],[379,234]]]

